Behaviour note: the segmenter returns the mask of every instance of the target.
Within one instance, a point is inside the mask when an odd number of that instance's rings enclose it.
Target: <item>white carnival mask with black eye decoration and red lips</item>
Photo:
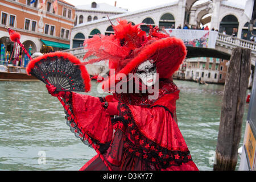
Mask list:
[[[154,60],[144,61],[137,68],[136,74],[141,78],[144,85],[152,86],[156,82],[156,67]]]

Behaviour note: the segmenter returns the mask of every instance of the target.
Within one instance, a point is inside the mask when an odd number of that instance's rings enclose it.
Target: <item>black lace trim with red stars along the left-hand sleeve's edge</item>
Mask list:
[[[69,107],[69,110],[71,111],[71,113],[73,113],[73,109],[72,109],[72,92],[71,92],[71,96],[68,100],[63,100],[65,102],[65,104]],[[101,98],[100,98],[101,101]],[[72,133],[75,134],[75,137],[80,138],[80,140],[86,144],[87,146],[91,147],[91,144],[89,144],[88,140],[85,137],[85,134],[82,133],[82,130],[77,126],[76,122],[74,119],[72,119],[71,115],[68,114],[68,112],[66,110],[65,111],[65,119],[67,119],[67,125],[70,127],[70,130]],[[90,137],[89,134],[86,133],[86,135],[88,135]],[[101,152],[101,154],[104,154],[106,152],[106,150],[108,150],[110,143],[100,143],[98,140],[93,139],[92,137],[90,137],[90,139],[93,141],[93,143],[95,144],[95,146],[98,148],[98,150]]]

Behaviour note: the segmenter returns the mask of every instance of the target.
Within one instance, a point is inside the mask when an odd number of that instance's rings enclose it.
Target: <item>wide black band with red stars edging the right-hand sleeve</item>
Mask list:
[[[119,104],[118,110],[120,121],[127,126],[123,139],[125,152],[144,161],[148,170],[180,166],[192,160],[189,151],[170,151],[141,134],[127,105]]]

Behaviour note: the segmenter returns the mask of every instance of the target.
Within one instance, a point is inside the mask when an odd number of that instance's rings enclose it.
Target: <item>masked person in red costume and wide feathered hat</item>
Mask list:
[[[55,92],[75,118],[67,114],[71,130],[85,144],[93,142],[97,155],[80,170],[198,170],[176,122],[179,89],[173,73],[186,56],[180,39],[119,20],[115,34],[86,39],[84,64],[109,60],[110,76],[102,82],[105,98],[75,92]],[[121,91],[120,91],[121,90]]]

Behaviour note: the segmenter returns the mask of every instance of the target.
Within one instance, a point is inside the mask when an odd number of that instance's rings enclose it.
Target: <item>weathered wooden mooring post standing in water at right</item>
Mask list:
[[[250,67],[251,50],[234,48],[224,87],[214,171],[236,169]]]

